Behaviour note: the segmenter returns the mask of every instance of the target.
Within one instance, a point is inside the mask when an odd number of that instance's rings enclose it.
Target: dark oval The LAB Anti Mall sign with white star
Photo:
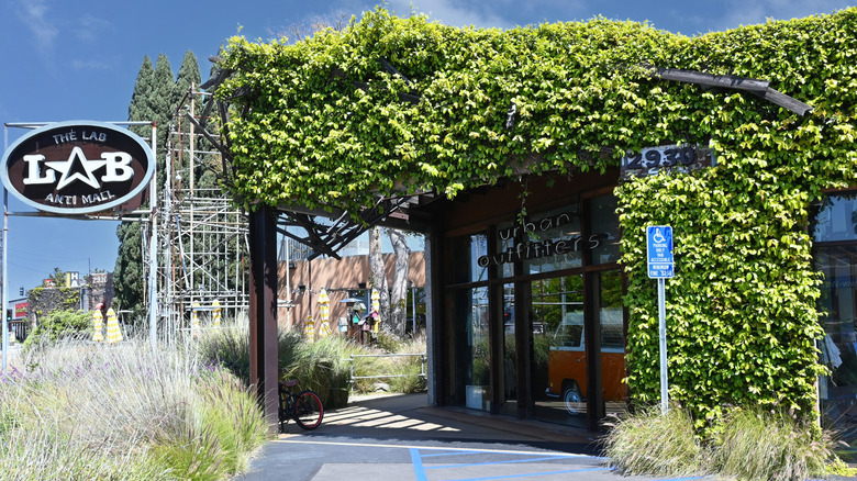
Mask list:
[[[7,189],[24,203],[57,214],[121,206],[148,186],[154,171],[155,157],[142,138],[91,121],[36,128],[15,141],[0,160]]]

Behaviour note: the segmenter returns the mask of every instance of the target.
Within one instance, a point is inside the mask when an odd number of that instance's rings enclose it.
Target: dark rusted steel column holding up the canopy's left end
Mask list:
[[[251,383],[271,434],[277,433],[277,217],[263,206],[249,214],[249,360]]]

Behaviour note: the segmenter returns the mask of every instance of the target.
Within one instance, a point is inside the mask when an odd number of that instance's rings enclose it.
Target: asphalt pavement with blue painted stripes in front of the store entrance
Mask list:
[[[322,425],[266,445],[238,480],[703,480],[627,477],[599,456],[593,433],[433,407],[425,394],[355,398]]]

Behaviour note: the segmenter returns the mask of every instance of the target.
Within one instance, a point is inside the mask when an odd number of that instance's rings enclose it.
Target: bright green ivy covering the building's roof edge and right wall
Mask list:
[[[856,180],[855,31],[857,9],[692,38],[605,19],[456,29],[378,9],[293,45],[235,37],[224,63],[234,74],[218,91],[248,108],[229,125],[233,193],[247,208],[357,212],[401,190],[454,197],[522,172],[605,171],[626,149],[710,147],[716,167],[615,190],[632,395],[659,395],[644,227],[669,224],[670,396],[697,427],[728,404],[783,403],[811,418],[823,332],[806,225],[824,189]],[[799,118],[752,94],[659,80],[648,66],[767,79],[814,110]]]

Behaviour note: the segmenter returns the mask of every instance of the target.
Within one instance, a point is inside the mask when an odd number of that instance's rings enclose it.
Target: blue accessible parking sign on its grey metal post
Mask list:
[[[667,306],[666,279],[675,275],[672,261],[672,227],[649,225],[646,227],[646,257],[648,277],[658,280],[658,337],[660,340],[660,412],[669,409],[667,390]]]

